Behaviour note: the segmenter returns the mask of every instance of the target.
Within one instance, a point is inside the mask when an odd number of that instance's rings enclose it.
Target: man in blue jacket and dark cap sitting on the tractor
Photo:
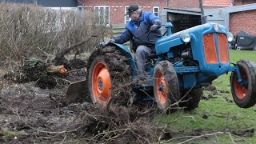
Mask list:
[[[158,27],[162,21],[153,13],[142,11],[137,5],[129,6],[126,15],[131,19],[126,30],[109,42],[123,44],[131,40],[139,75],[145,71],[146,58],[154,52],[155,42],[161,37]]]

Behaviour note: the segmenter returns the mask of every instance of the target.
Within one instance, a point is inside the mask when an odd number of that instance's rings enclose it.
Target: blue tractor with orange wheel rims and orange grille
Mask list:
[[[228,42],[233,34],[224,26],[205,23],[174,34],[171,22],[165,28],[166,34],[155,43],[155,53],[147,58],[147,75],[138,76],[134,55],[126,46],[108,43],[94,50],[86,81],[71,84],[66,99],[72,102],[87,89],[94,104],[108,106],[113,98],[126,103],[128,92],[133,91],[135,99],[152,96],[161,112],[174,106],[194,110],[202,87],[231,72],[234,102],[242,108],[255,105],[256,65],[245,59],[230,62]]]

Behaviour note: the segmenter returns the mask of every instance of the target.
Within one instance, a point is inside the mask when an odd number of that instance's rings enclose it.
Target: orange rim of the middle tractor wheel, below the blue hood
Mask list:
[[[157,94],[158,94],[158,101],[160,102],[161,105],[166,104],[166,81],[165,78],[163,77],[162,73],[158,73],[156,75],[156,86],[154,86],[155,89],[157,89]]]

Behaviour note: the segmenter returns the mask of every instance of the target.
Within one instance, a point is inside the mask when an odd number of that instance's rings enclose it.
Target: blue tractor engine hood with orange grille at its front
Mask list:
[[[182,41],[182,34],[190,35],[188,47],[192,51],[193,60],[198,62],[202,72],[218,76],[229,70],[230,57],[227,48],[229,34],[224,26],[217,23],[206,23],[163,36],[156,42],[156,54],[173,53],[178,46],[185,44],[186,42]]]

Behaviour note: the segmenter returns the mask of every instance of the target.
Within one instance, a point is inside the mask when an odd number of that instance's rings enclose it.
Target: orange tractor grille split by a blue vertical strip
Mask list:
[[[226,34],[210,33],[203,36],[204,54],[207,64],[229,62]],[[218,53],[217,53],[218,52]]]

